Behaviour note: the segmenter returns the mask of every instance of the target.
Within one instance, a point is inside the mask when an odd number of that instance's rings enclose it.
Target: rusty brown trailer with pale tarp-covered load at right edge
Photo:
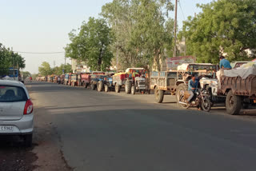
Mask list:
[[[226,113],[239,114],[241,109],[250,109],[256,105],[255,66],[220,70],[218,79],[202,79],[200,84],[210,89],[212,98],[222,99]],[[223,100],[224,99],[224,100]]]

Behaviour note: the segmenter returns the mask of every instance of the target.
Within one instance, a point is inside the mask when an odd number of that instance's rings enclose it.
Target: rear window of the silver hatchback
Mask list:
[[[0,85],[0,102],[26,101],[27,96],[22,87]]]

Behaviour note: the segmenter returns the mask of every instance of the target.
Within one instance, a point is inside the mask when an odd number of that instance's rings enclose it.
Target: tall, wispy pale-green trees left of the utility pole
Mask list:
[[[102,6],[102,16],[114,30],[114,54],[122,68],[160,63],[172,51],[174,21],[170,0],[114,0]]]

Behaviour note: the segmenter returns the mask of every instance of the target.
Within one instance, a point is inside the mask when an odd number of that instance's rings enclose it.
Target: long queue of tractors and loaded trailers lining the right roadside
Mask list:
[[[237,69],[234,69],[237,70]],[[123,89],[127,94],[150,93],[154,91],[157,103],[162,103],[165,95],[174,95],[177,104],[184,109],[197,106],[209,111],[216,103],[226,105],[226,112],[238,114],[241,109],[250,109],[256,105],[256,74],[255,71],[246,78],[240,76],[218,76],[218,66],[206,63],[190,63],[178,66],[177,70],[150,72],[143,68],[128,68],[125,72],[107,73],[70,73],[61,76],[42,78],[44,82],[58,82],[71,86],[82,86],[98,92]],[[232,72],[232,70],[230,71]],[[246,72],[248,73],[248,72]],[[198,91],[190,103],[188,82],[194,75],[198,79]]]

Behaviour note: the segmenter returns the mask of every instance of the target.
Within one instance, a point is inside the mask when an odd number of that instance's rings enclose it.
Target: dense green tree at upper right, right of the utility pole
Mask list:
[[[256,1],[218,0],[198,5],[202,13],[184,22],[187,54],[197,62],[218,62],[221,51],[230,61],[247,59],[246,49],[256,48]]]

